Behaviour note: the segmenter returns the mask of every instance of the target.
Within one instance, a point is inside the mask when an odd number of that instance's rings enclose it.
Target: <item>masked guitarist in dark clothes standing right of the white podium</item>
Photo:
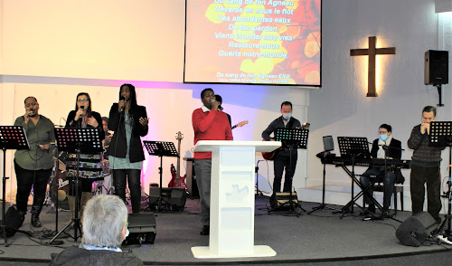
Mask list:
[[[270,137],[270,134],[275,134],[277,128],[300,128],[301,123],[297,119],[292,117],[292,103],[290,101],[284,101],[281,103],[281,116],[278,119],[273,120],[262,132],[262,138],[266,141],[274,138]],[[275,179],[273,179],[273,195],[281,192],[281,180],[284,169],[286,169],[286,176],[284,177],[283,192],[290,192],[292,189],[292,177],[295,173],[297,166],[297,148],[292,150],[292,167],[290,167],[290,151],[282,150],[275,158],[273,168],[275,171]]]

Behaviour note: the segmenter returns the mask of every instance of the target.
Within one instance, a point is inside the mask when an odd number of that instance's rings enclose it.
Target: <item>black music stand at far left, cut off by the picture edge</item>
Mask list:
[[[2,235],[5,239],[5,247],[8,246],[8,237],[6,236],[5,208],[6,208],[6,150],[7,149],[30,149],[28,138],[22,126],[0,126],[0,147],[3,150],[3,199],[2,199]]]

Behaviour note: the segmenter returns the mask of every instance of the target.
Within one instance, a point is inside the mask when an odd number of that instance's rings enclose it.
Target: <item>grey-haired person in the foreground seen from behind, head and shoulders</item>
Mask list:
[[[64,250],[51,265],[143,265],[119,248],[127,235],[126,204],[117,195],[98,195],[85,206],[80,246]]]

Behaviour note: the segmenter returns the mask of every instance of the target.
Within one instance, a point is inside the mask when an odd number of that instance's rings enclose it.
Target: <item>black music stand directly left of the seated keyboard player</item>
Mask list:
[[[356,204],[356,200],[361,195],[369,195],[366,190],[363,189],[359,180],[356,179],[356,176],[354,176],[354,161],[355,159],[370,161],[371,153],[369,151],[369,142],[367,141],[367,138],[337,137],[337,143],[339,144],[341,157],[352,160],[352,200],[348,202],[348,204],[344,205],[344,207],[341,209],[341,213],[343,213],[341,216],[342,219],[344,217],[344,214],[349,210],[353,214],[353,205]],[[362,188],[362,191],[356,196],[354,196],[354,183]],[[381,205],[377,201],[375,201],[372,195],[370,196],[370,198],[381,209]]]

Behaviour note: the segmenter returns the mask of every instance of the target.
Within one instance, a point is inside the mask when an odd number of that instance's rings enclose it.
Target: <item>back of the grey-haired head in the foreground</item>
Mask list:
[[[83,212],[83,244],[116,248],[127,228],[126,204],[116,195],[98,195],[88,201]]]

